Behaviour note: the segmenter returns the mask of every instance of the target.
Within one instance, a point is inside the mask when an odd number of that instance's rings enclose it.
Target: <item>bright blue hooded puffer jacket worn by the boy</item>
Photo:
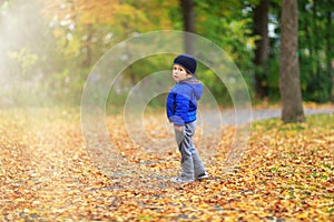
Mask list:
[[[184,125],[196,120],[197,100],[200,99],[203,84],[195,78],[174,85],[167,97],[166,111],[170,122]]]

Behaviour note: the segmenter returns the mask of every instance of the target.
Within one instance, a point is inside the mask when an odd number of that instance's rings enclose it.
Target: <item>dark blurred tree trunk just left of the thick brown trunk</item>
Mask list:
[[[255,71],[255,91],[259,99],[268,95],[268,8],[269,0],[261,0],[259,4],[254,9],[253,22],[254,34],[261,39],[256,40],[254,64],[257,68]]]

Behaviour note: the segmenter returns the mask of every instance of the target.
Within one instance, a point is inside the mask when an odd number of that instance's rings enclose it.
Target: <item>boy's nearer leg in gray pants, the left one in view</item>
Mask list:
[[[191,132],[187,130],[187,124],[184,127],[183,131],[175,130],[176,141],[178,143],[178,149],[181,154],[181,175],[180,178],[186,180],[194,180],[194,162],[191,157],[191,147],[189,144],[189,135]],[[194,133],[193,133],[194,134]]]

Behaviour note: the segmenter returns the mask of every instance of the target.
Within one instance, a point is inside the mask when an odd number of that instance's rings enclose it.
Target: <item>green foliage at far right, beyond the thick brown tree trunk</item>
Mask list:
[[[299,0],[299,54],[304,99],[315,102],[331,100],[333,74],[333,1]]]

